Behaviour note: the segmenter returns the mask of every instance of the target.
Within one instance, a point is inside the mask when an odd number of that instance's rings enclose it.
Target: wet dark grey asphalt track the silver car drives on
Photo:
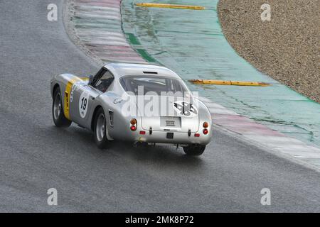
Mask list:
[[[58,21],[47,6],[58,4]],[[181,148],[96,148],[55,128],[50,78],[98,68],[73,45],[62,1],[0,1],[0,211],[320,211],[319,173],[214,129],[201,157]],[[58,190],[48,206],[47,190]],[[271,206],[262,206],[262,188]]]

